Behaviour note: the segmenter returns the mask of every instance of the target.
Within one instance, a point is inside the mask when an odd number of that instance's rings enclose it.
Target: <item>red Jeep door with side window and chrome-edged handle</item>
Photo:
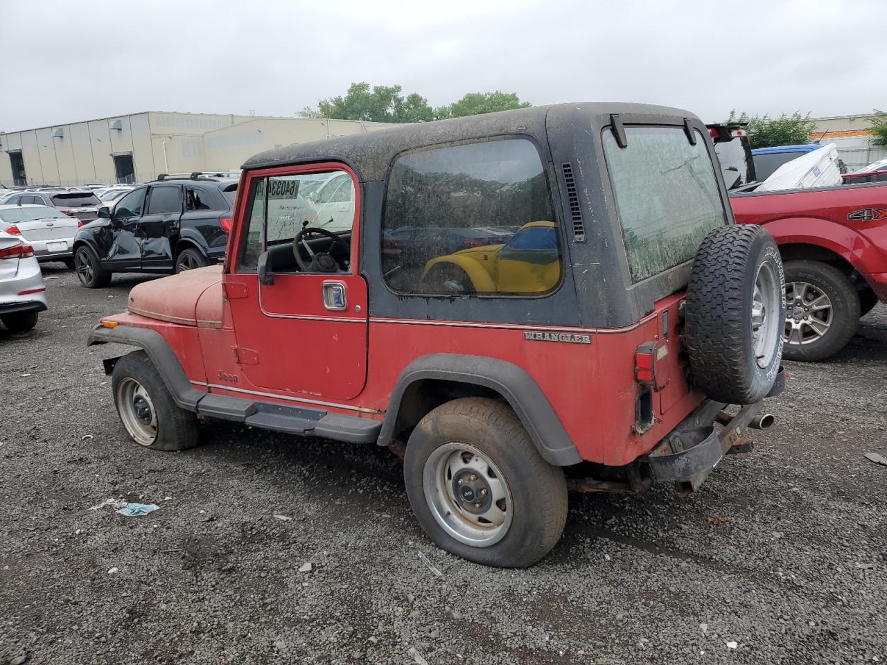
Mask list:
[[[302,181],[322,174],[344,176],[352,212],[347,223],[330,231],[346,245],[323,236],[306,240],[311,251],[334,256],[338,269],[309,272],[297,266],[293,241],[315,224],[315,208],[299,189]],[[295,402],[335,404],[356,397],[366,379],[367,335],[367,287],[357,265],[356,176],[338,163],[263,169],[249,174],[240,192],[245,205],[239,207],[224,288],[244,377]],[[304,246],[296,251],[310,262]],[[260,259],[268,266],[264,283]],[[212,375],[213,368],[207,369]]]

